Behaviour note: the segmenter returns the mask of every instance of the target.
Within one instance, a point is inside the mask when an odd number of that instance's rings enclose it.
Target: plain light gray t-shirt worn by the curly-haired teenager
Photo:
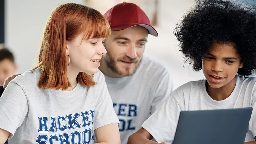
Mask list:
[[[230,109],[253,107],[245,142],[255,141],[256,136],[256,77],[236,76],[236,85],[225,100],[213,100],[206,92],[206,80],[188,82],[174,92],[142,127],[157,142],[171,143],[174,139],[180,111]]]

